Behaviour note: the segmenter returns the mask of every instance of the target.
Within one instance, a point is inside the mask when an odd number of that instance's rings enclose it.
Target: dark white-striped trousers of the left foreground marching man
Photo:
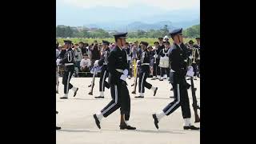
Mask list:
[[[112,100],[101,110],[103,116],[106,118],[120,108],[121,114],[125,114],[125,120],[128,121],[130,118],[130,95],[126,82],[120,80],[117,84],[110,84],[110,93]]]

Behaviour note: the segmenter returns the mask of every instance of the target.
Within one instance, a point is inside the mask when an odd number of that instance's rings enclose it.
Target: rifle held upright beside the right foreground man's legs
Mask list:
[[[194,109],[194,122],[200,122],[200,118],[198,116],[198,109],[200,110],[200,107],[198,106],[197,97],[195,95],[193,77],[190,77],[190,82],[191,82],[191,92],[192,92],[192,99],[193,99],[192,106],[193,106],[193,109]]]

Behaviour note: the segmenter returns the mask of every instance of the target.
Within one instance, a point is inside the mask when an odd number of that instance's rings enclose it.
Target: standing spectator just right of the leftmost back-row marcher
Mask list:
[[[74,46],[74,70],[75,70],[75,77],[78,77],[79,70],[80,70],[80,62],[82,60],[82,50],[79,48],[78,44]]]

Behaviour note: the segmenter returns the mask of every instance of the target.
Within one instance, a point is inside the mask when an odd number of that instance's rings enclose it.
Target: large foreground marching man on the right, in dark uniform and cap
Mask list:
[[[158,122],[166,115],[172,114],[179,106],[182,107],[182,117],[184,118],[184,130],[198,130],[191,124],[190,118],[190,100],[187,93],[186,75],[187,72],[187,55],[186,46],[183,44],[182,29],[173,30],[170,33],[171,38],[174,40],[174,49],[170,53],[171,69],[173,71],[173,87],[174,87],[174,101],[170,102],[160,113],[153,114],[154,125],[158,129]]]

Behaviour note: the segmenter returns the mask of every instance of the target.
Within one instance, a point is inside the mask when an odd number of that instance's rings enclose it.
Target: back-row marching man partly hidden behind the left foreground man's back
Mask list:
[[[105,91],[105,86],[106,88],[110,88],[110,85],[108,82],[106,82],[106,78],[109,75],[109,71],[107,70],[107,63],[108,63],[108,56],[110,54],[110,48],[109,48],[110,42],[107,41],[102,41],[102,49],[103,49],[103,54],[102,58],[100,60],[97,60],[94,62],[94,66],[102,66],[102,71],[100,74],[100,79],[99,79],[99,93],[100,96],[94,97],[94,98],[104,98],[104,91]]]

